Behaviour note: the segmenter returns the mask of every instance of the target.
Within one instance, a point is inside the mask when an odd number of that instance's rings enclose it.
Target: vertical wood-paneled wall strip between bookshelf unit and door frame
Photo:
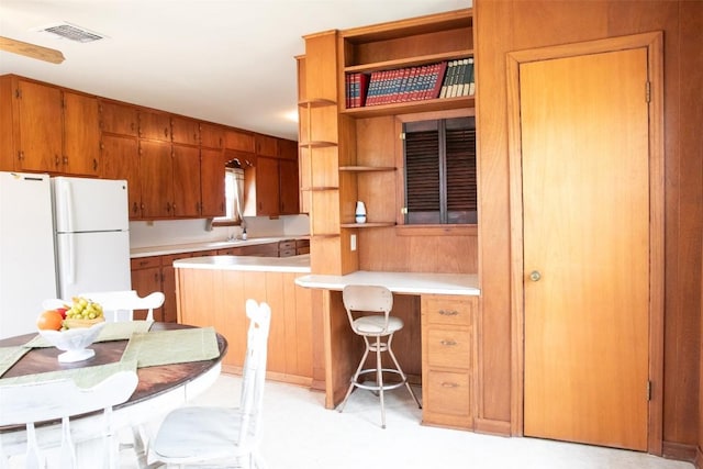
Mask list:
[[[509,429],[521,435],[511,395],[510,201],[505,130],[505,53],[516,22],[513,3],[477,1],[473,8],[477,83],[477,169],[479,175],[478,432]],[[520,26],[522,27],[522,25]],[[518,377],[517,379],[522,379]],[[522,407],[521,407],[522,409]]]

